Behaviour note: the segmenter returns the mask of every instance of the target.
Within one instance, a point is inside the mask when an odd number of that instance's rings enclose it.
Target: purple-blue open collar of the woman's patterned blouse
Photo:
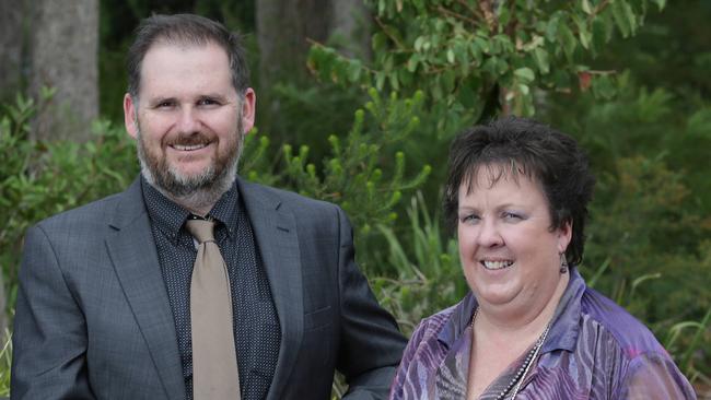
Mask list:
[[[574,350],[580,331],[581,301],[586,287],[585,281],[578,272],[578,269],[571,268],[570,281],[553,314],[553,322],[541,349],[543,352],[558,349]],[[438,340],[450,349],[471,322],[471,316],[477,306],[478,303],[474,294],[471,292],[467,293],[462,302],[454,306],[452,316],[438,334]]]

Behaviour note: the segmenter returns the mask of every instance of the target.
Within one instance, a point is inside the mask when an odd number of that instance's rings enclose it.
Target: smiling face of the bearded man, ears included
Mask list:
[[[226,52],[214,44],[154,44],[138,98],[125,96],[125,122],[147,179],[174,196],[226,190],[255,101],[252,89],[237,95]]]

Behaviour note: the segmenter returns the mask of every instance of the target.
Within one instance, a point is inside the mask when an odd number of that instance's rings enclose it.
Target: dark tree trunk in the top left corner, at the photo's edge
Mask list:
[[[22,90],[24,0],[0,0],[0,102]]]

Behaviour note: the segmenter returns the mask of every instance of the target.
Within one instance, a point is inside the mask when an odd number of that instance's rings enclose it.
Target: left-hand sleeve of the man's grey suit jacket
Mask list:
[[[83,313],[42,226],[25,236],[12,341],[13,399],[94,398]]]

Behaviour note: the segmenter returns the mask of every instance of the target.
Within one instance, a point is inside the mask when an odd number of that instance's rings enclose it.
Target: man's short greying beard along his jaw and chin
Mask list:
[[[237,163],[244,146],[245,132],[243,132],[241,115],[237,116],[235,132],[237,138],[234,145],[230,145],[229,152],[224,155],[218,153],[213,163],[194,175],[184,174],[176,165],[168,163],[165,152],[160,155],[161,149],[151,153],[145,145],[138,121],[136,125],[138,129],[136,149],[141,164],[141,174],[164,196],[184,208],[197,210],[211,208],[224,192],[230,190],[237,175]],[[195,134],[197,133],[193,136]]]

